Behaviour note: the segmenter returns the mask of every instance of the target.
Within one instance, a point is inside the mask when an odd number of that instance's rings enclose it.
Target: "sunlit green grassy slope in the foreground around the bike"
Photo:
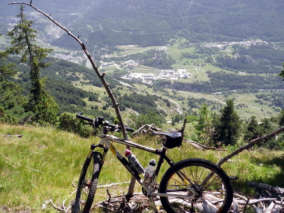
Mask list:
[[[45,210],[41,210],[44,201],[53,199],[57,206],[61,206],[75,185],[81,171],[81,167],[91,143],[97,143],[99,138],[80,138],[77,135],[43,127],[26,127],[0,125],[0,135],[25,134],[23,138],[2,138],[0,144],[0,212],[15,212],[18,209],[28,209],[33,212],[57,212],[50,204]],[[160,148],[157,139],[136,138],[137,143]],[[122,152],[125,147],[115,145]],[[230,150],[231,151],[231,150]],[[153,154],[134,149],[142,165],[146,166]],[[217,162],[227,153],[213,151],[199,151],[192,149],[189,144],[183,143],[181,148],[171,149],[168,154],[174,161],[185,158],[198,157]],[[245,182],[265,182],[274,186],[284,187],[282,177],[284,171],[283,152],[247,151],[233,158],[230,163],[223,164],[222,168],[229,176],[238,176],[234,182],[235,190],[253,195],[253,190],[244,187]],[[36,172],[25,167],[35,168]],[[257,166],[263,163],[263,166]],[[12,164],[12,165],[11,165]],[[114,168],[116,168],[114,170]],[[161,174],[165,172],[164,164]],[[161,175],[158,178],[160,181]],[[99,184],[112,182],[124,182],[130,179],[129,174],[119,165],[112,154],[108,154],[106,163],[102,168]],[[136,184],[135,192],[140,192],[140,186]],[[111,195],[127,192],[127,184],[109,187]],[[75,194],[65,202],[68,206]],[[99,188],[95,202],[107,198],[106,189]]]

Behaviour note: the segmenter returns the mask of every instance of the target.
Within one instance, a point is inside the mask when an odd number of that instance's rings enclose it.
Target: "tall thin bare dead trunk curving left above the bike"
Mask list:
[[[106,73],[100,73],[100,71],[97,69],[98,67],[96,66],[96,64],[94,63],[93,59],[92,59],[92,56],[89,54],[85,44],[79,40],[79,36],[75,36],[73,35],[68,29],[66,29],[64,26],[60,25],[57,21],[55,21],[51,15],[49,14],[46,14],[45,12],[39,10],[38,8],[36,8],[35,6],[32,5],[32,1],[30,3],[26,3],[26,2],[12,2],[11,3],[8,3],[8,5],[10,4],[25,4],[25,5],[28,5],[32,8],[34,8],[37,12],[40,12],[41,14],[43,14],[44,16],[46,16],[50,21],[52,21],[54,24],[56,24],[57,26],[59,26],[61,29],[63,29],[64,31],[67,32],[68,35],[70,35],[73,39],[75,39],[82,47],[82,50],[84,51],[84,53],[86,54],[86,56],[88,57],[90,63],[92,64],[92,68],[95,70],[95,72],[97,73],[97,76],[100,78],[100,80],[102,81],[102,84],[104,86],[104,88],[106,89],[107,91],[107,94],[108,96],[111,98],[111,101],[113,103],[113,106],[114,106],[114,109],[116,111],[116,116],[120,122],[120,125],[121,125],[121,131],[122,131],[122,134],[123,134],[123,137],[124,137],[124,140],[128,140],[128,137],[127,137],[127,133],[126,133],[126,130],[125,130],[125,125],[124,125],[124,122],[122,120],[122,116],[121,116],[121,112],[120,112],[120,109],[119,109],[119,105],[120,103],[117,103],[116,102],[116,99],[114,97],[114,93],[111,92],[111,89],[109,88],[109,84],[106,82],[104,76]],[[127,149],[130,149],[129,146],[126,146]],[[132,185],[131,185],[132,183]],[[133,194],[133,190],[134,190],[134,185],[135,185],[135,178],[134,177],[131,177],[131,182],[130,182],[130,185],[129,185],[129,190],[128,190],[128,194],[129,195],[132,195]]]

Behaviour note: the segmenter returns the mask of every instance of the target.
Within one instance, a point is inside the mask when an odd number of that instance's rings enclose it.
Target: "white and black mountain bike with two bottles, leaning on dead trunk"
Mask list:
[[[155,213],[158,213],[156,205],[159,204],[155,201],[158,197],[163,210],[166,212],[227,213],[230,210],[233,201],[233,190],[230,178],[222,168],[208,160],[198,158],[184,159],[175,163],[166,154],[168,149],[181,146],[181,132],[153,133],[165,137],[161,149],[154,149],[109,135],[109,132],[118,131],[121,127],[110,124],[103,117],[93,119],[83,116],[83,112],[78,113],[76,117],[88,121],[88,125],[99,128],[102,133],[100,132],[101,140],[99,144],[91,145],[84,162],[78,182],[74,212],[88,213],[90,211],[98,177],[109,149],[126,170],[142,185],[142,191],[147,196]],[[127,126],[125,126],[125,129],[133,131],[132,128]],[[142,174],[139,175],[134,166],[117,151],[111,142],[124,144],[159,156],[150,183],[143,181],[140,177]],[[164,161],[168,163],[169,168],[163,174],[160,184],[157,184],[156,179]]]

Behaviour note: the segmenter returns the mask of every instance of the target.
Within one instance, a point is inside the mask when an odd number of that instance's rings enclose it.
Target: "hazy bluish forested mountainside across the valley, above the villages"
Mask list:
[[[1,2],[0,7],[2,33],[8,23],[15,22],[10,18],[15,7],[4,6],[5,3]],[[254,37],[281,41],[284,34],[284,3],[280,0],[40,1],[35,2],[35,6],[46,8],[52,17],[70,26],[73,33],[88,39],[92,48],[95,45],[162,45],[175,35],[186,37],[188,42],[199,42]],[[31,16],[41,17],[35,13]],[[75,47],[73,42],[63,42],[66,35],[57,28],[50,28],[42,18],[37,21],[37,29],[44,40],[54,45]]]

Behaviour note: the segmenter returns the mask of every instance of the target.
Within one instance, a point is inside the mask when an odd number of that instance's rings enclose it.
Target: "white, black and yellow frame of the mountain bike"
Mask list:
[[[154,153],[154,154],[160,156],[158,164],[157,164],[157,168],[154,172],[154,175],[153,175],[153,178],[152,178],[152,181],[151,181],[150,184],[144,183],[144,181],[140,178],[140,176],[135,171],[135,169],[132,168],[131,164],[125,159],[124,156],[122,156],[118,152],[118,150],[112,145],[112,143],[110,141],[115,142],[115,143],[119,143],[119,144],[124,144],[126,146],[130,146],[130,147],[133,147],[133,148],[142,149],[144,151],[151,152],[151,153]],[[170,167],[174,168],[174,166],[173,166],[174,162],[171,161],[171,159],[169,159],[166,155],[166,151],[167,151],[168,148],[162,146],[162,148],[160,150],[154,149],[154,148],[144,146],[144,145],[141,145],[141,144],[137,144],[137,143],[134,143],[134,142],[131,142],[131,141],[128,141],[128,140],[123,140],[123,139],[115,137],[113,135],[108,135],[107,133],[102,133],[101,140],[99,142],[99,146],[104,147],[104,151],[103,151],[102,159],[101,159],[101,164],[104,163],[104,159],[106,157],[107,151],[108,151],[108,149],[110,149],[112,154],[114,154],[116,156],[116,158],[123,164],[123,166],[131,173],[131,175],[133,175],[135,177],[137,182],[139,182],[140,185],[142,185],[142,187],[145,189],[145,191],[147,192],[147,197],[149,199],[149,202],[150,202],[151,206],[153,207],[155,213],[158,213],[158,210],[157,210],[156,205],[154,203],[154,199],[153,199],[154,195],[155,196],[172,196],[172,197],[187,198],[187,199],[194,198],[194,196],[197,195],[197,192],[195,191],[195,189],[190,187],[190,185],[193,185],[191,180],[189,178],[187,178],[187,176],[185,174],[178,173],[178,172],[177,172],[177,175],[182,179],[184,184],[186,184],[188,186],[188,189],[192,192],[191,196],[154,192],[154,185],[156,183],[156,179],[158,177],[158,174],[159,174],[159,171],[160,171],[160,168],[161,168],[163,161],[166,160],[167,163],[170,165]],[[94,151],[94,148],[91,147],[89,155],[88,155],[89,158],[91,158],[93,151]]]

